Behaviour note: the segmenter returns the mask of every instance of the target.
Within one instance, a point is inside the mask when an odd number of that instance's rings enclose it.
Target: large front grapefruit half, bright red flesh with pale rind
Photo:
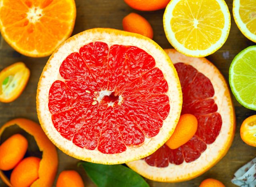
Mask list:
[[[154,41],[96,28],[52,54],[36,102],[42,128],[64,153],[118,164],[146,157],[170,138],[182,92],[170,58]]]

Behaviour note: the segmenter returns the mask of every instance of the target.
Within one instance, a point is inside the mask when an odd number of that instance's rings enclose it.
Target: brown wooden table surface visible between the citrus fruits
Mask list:
[[[226,3],[231,13],[231,30],[228,40],[220,50],[207,58],[220,69],[226,80],[228,80],[228,70],[234,56],[244,48],[255,44],[244,37],[238,30],[232,16],[232,0],[226,0]],[[140,12],[127,6],[123,0],[76,0],[76,7],[77,17],[72,35],[96,27],[122,29],[122,19],[124,16],[130,12],[136,12],[144,16],[150,24],[152,24],[154,29],[154,41],[162,48],[172,48],[164,34],[162,24],[164,10]],[[23,94],[12,103],[0,103],[0,126],[6,121],[16,117],[26,117],[38,122],[36,114],[36,89],[42,69],[47,60],[48,57],[30,58],[15,52],[0,36],[0,70],[14,62],[22,61],[31,71],[30,80]],[[256,114],[256,111],[242,107],[234,97],[233,101],[236,110],[237,129],[234,142],[227,155],[212,169],[196,179],[182,183],[159,183],[147,180],[150,186],[192,187],[198,186],[202,180],[209,177],[219,179],[226,186],[234,186],[230,182],[233,174],[239,167],[253,159],[256,153],[256,148],[246,145],[240,138],[240,126],[242,121],[246,117]],[[65,155],[60,150],[58,150],[58,156],[58,172],[64,169],[77,169],[77,159]],[[95,186],[82,168],[77,170],[83,176],[86,186]],[[4,186],[1,180],[0,186]]]

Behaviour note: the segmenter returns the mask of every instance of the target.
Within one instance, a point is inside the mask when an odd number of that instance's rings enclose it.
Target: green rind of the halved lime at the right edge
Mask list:
[[[232,90],[232,93],[234,94],[234,96],[236,97],[236,100],[243,105],[244,107],[248,108],[248,109],[252,109],[252,110],[256,110],[256,105],[254,105],[253,103],[246,103],[242,97],[240,96],[240,94],[238,93],[238,91],[236,90],[236,86],[234,84],[234,66],[236,66],[236,62],[238,62],[238,60],[242,59],[244,54],[250,52],[250,51],[255,51],[256,54],[256,46],[250,46],[244,50],[242,50],[238,55],[235,56],[234,60],[232,61],[230,68],[229,68],[229,84],[230,84],[230,88]],[[253,68],[251,71],[254,71]]]

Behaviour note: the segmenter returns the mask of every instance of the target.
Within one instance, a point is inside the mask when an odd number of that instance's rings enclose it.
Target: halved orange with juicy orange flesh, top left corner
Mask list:
[[[72,33],[74,0],[1,0],[0,31],[17,52],[49,56]]]

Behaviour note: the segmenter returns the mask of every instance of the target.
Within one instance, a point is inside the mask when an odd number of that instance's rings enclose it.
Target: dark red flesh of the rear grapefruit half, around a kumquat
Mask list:
[[[195,115],[198,120],[198,129],[194,137],[178,149],[170,149],[163,145],[158,151],[145,158],[146,163],[156,167],[167,167],[167,161],[179,165],[184,161],[192,162],[198,159],[206,150],[207,144],[215,141],[222,126],[221,116],[217,112],[218,106],[212,98],[214,88],[210,80],[191,65],[177,63],[174,67],[182,87],[181,114]],[[162,151],[167,151],[168,154],[161,154]]]

